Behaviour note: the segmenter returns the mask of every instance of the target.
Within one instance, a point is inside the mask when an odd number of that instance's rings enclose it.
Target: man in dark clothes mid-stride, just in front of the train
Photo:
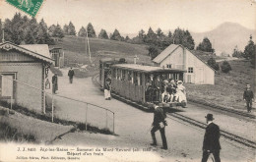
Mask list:
[[[152,124],[153,128],[151,130],[153,143],[151,143],[151,145],[157,145],[157,138],[156,138],[155,133],[160,130],[160,136],[161,136],[161,141],[162,141],[161,148],[162,149],[168,149],[166,136],[165,136],[165,126],[167,126],[165,118],[166,118],[165,110],[163,110],[163,108],[155,105],[154,121]]]

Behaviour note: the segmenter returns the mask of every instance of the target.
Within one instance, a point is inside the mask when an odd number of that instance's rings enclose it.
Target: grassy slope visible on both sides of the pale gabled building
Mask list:
[[[58,43],[65,50],[65,56],[71,62],[80,64],[89,64],[89,57],[85,54],[85,38],[66,36],[63,41]],[[139,63],[151,64],[151,59],[148,56],[147,46],[130,44],[125,42],[103,40],[97,38],[90,39],[92,60],[95,66],[89,66],[87,70],[76,70],[77,77],[92,76],[97,73],[98,59],[101,57],[124,57],[128,62],[133,62],[133,57],[136,54],[140,59]],[[207,61],[210,57],[216,60],[223,59],[218,56],[211,56],[203,52],[196,51],[196,54],[202,55],[202,60]],[[229,62],[232,71],[229,74],[216,74],[215,85],[197,85],[186,84],[188,96],[204,99],[207,102],[221,104],[237,109],[244,109],[242,94],[247,82],[253,84],[253,69],[249,62],[236,60]],[[220,64],[221,65],[221,64]]]

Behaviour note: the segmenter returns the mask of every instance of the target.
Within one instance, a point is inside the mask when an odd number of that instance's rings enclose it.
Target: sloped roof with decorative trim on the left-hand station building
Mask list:
[[[54,60],[50,58],[49,49],[47,44],[33,44],[33,45],[16,45],[12,42],[6,41],[0,44],[0,49],[11,50],[15,49],[17,51],[23,52],[33,58],[39,59],[41,61],[54,64]]]

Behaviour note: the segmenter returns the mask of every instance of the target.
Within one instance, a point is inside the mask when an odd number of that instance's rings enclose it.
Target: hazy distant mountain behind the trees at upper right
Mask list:
[[[207,36],[216,49],[217,55],[220,55],[222,52],[231,55],[235,45],[237,45],[239,50],[243,51],[249,41],[250,34],[254,42],[256,40],[256,30],[242,27],[236,23],[224,23],[211,31],[191,32],[191,34],[196,46]]]

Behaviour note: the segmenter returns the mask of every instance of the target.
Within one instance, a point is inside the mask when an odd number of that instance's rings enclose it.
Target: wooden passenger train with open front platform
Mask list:
[[[186,107],[186,101],[160,102],[158,89],[154,88],[157,80],[183,81],[186,71],[139,64],[128,64],[125,59],[103,58],[99,60],[99,82],[103,89],[106,80],[111,81],[111,93],[128,101],[153,109],[154,105],[163,107]],[[159,78],[159,79],[158,79]],[[149,82],[152,91],[149,92]]]

